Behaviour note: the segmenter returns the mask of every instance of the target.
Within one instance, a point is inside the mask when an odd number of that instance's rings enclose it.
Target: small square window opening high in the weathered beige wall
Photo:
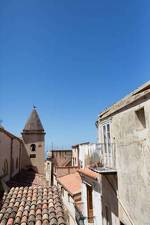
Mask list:
[[[146,119],[145,119],[145,111],[144,107],[135,111],[136,118],[137,118],[137,125],[138,129],[144,129],[146,128]]]

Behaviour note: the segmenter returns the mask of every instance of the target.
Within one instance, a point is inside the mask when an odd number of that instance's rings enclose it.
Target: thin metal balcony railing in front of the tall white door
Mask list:
[[[103,167],[116,169],[116,146],[115,143],[97,143],[96,153]]]

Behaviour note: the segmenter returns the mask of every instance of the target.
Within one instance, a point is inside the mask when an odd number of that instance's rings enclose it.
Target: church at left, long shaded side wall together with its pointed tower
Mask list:
[[[44,174],[44,129],[38,113],[33,109],[18,138],[0,128],[0,178],[5,182],[21,171],[32,168]]]

